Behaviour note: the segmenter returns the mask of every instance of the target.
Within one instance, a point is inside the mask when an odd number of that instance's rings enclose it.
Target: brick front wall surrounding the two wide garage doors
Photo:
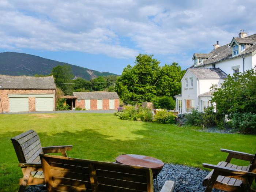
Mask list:
[[[15,90],[15,89],[0,89],[0,113],[9,112],[9,98],[7,94],[54,94],[53,109],[55,110],[55,90]],[[3,111],[2,111],[3,108]],[[35,111],[35,97],[29,97],[29,111]]]

